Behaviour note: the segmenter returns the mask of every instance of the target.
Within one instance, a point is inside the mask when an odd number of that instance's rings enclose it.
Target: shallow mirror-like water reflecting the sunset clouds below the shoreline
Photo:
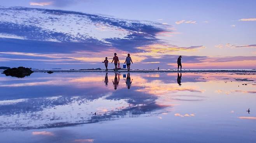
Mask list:
[[[0,74],[1,142],[255,143],[255,73],[180,76]]]

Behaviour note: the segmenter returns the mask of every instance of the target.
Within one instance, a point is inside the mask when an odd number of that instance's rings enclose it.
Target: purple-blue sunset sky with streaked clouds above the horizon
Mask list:
[[[256,68],[255,0],[2,0],[0,66]],[[109,63],[109,68],[114,64]]]

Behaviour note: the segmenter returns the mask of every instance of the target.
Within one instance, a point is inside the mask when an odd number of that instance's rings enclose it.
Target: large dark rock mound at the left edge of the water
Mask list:
[[[25,68],[23,66],[20,66],[18,68],[9,68],[3,72],[6,76],[12,76],[12,77],[19,77],[23,78],[25,76],[31,75],[33,71],[30,68]]]

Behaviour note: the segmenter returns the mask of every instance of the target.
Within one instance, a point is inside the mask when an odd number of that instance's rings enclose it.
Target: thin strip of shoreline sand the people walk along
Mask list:
[[[33,70],[35,73],[42,72],[81,72],[81,73],[106,73],[105,70]],[[107,72],[127,73],[127,70],[109,70]],[[256,73],[256,70],[130,70],[130,73]]]

